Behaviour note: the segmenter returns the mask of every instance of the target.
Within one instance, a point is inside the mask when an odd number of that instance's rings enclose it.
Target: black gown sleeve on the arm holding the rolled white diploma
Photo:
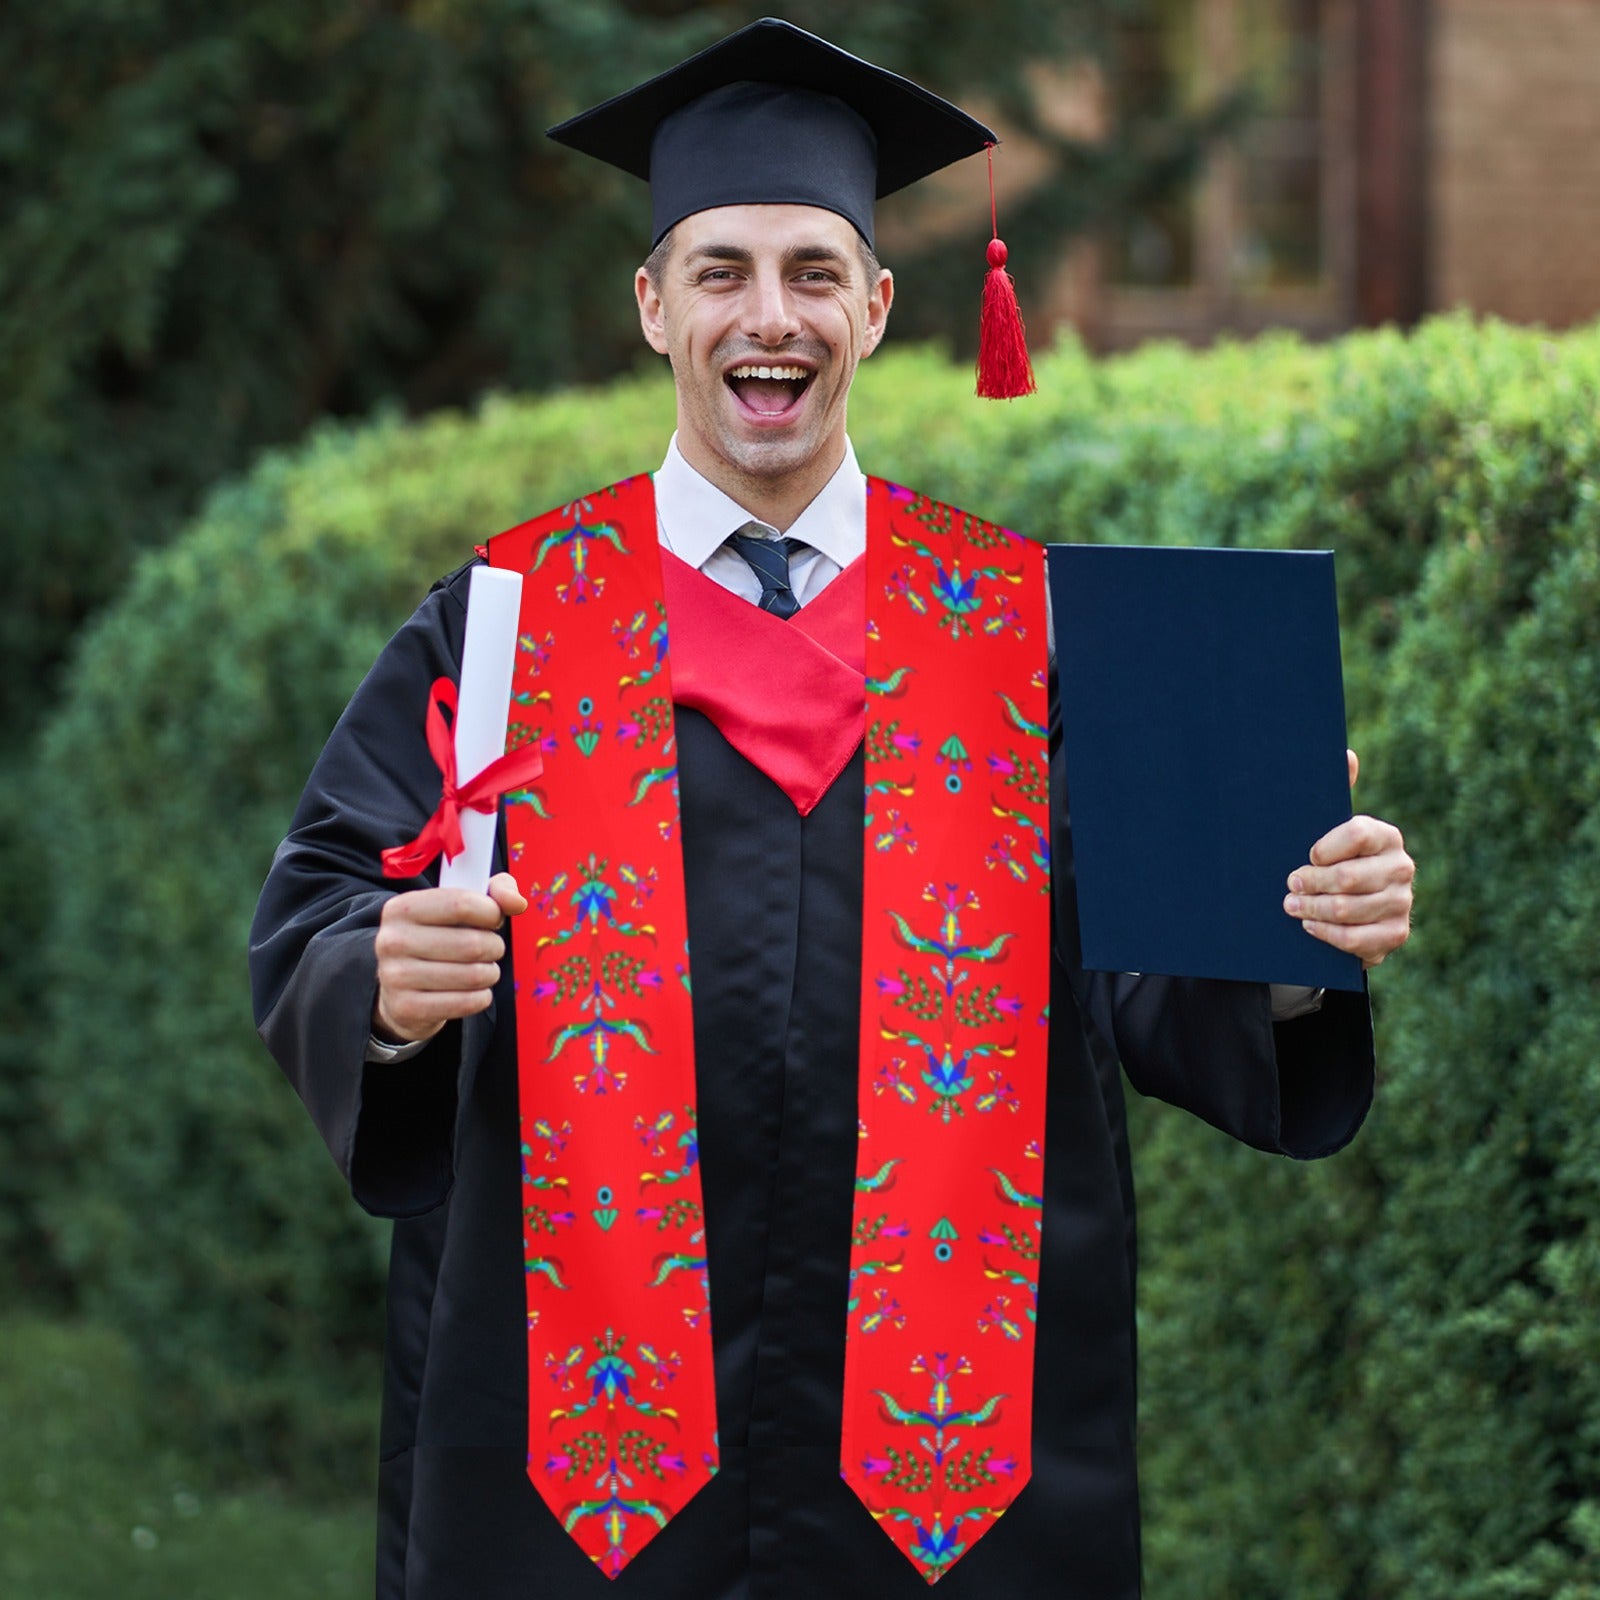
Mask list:
[[[434,587],[328,736],[250,931],[256,1027],[376,1216],[419,1216],[448,1195],[459,1077],[493,1030],[483,1013],[406,1061],[366,1061],[379,914],[390,894],[426,886],[386,878],[381,853],[413,838],[438,802],[427,691],[459,677],[469,570]]]

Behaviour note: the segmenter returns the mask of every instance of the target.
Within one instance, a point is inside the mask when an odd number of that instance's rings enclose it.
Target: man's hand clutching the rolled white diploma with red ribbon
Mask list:
[[[509,872],[490,878],[488,894],[411,890],[386,901],[373,1032],[389,1043],[413,1043],[459,1016],[486,1011],[506,955],[498,930],[526,909]]]

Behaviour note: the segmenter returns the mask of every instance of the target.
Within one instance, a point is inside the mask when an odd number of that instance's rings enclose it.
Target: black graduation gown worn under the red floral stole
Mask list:
[[[438,781],[427,685],[454,677],[466,573],[395,635],[331,734],[251,936],[262,1037],[355,1198],[395,1218],[381,1600],[912,1600],[926,1590],[838,1477],[856,1158],[862,757],[816,810],[678,712],[701,1171],[722,1470],[616,1581],[525,1470],[510,962],[496,1006],[414,1059],[366,1066],[379,851]],[[1061,784],[1059,755],[1053,786]],[[1053,794],[1061,795],[1061,787]],[[1134,1085],[1266,1150],[1344,1144],[1373,1086],[1363,995],[1274,1026],[1264,986],[1077,966],[1066,808],[1054,960],[1034,1478],[941,1595],[1133,1600]]]

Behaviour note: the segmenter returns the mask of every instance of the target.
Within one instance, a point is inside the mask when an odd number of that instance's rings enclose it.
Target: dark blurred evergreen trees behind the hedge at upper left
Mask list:
[[[1104,48],[1133,8],[795,0],[786,14],[1038,142],[1053,160],[1008,230],[1048,248],[1181,178],[1229,114],[1173,114],[1107,144],[1040,118],[1037,69]],[[685,0],[6,6],[8,734],[134,554],[262,446],[328,414],[424,413],[635,365],[643,186],[544,128],[757,14]],[[896,262],[906,333],[976,328],[981,168],[973,184],[968,234]]]

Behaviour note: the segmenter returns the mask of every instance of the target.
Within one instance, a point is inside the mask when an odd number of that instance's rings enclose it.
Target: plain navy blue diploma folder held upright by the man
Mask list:
[[[1333,555],[1048,560],[1083,965],[1360,989],[1283,910],[1350,816]]]

